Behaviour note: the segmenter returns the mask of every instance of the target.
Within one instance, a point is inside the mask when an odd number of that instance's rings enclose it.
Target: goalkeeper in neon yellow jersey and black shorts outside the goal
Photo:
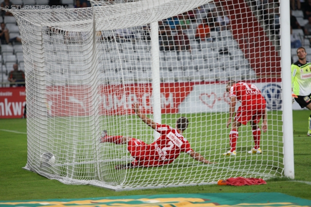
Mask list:
[[[297,49],[298,61],[292,64],[292,96],[301,108],[311,110],[311,63],[306,60],[305,48]],[[308,121],[308,136],[311,136],[311,115]]]

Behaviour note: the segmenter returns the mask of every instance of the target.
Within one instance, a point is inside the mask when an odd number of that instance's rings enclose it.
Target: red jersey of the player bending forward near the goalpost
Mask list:
[[[230,97],[236,96],[241,106],[265,105],[266,100],[260,90],[253,84],[239,82],[230,88]]]

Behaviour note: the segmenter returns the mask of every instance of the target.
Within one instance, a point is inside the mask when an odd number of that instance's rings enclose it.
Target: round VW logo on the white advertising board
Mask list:
[[[282,88],[276,83],[269,83],[261,90],[262,96],[266,99],[267,109],[282,109]]]

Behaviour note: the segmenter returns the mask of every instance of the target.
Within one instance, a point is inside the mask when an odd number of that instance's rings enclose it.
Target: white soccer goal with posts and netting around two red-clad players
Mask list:
[[[289,2],[90,1],[90,8],[9,10],[24,53],[25,169],[116,191],[294,178]],[[237,155],[223,156],[230,148],[225,86],[232,80],[254,84],[267,101],[262,154],[247,153],[254,141],[246,125]],[[159,136],[132,111],[134,102],[157,123],[175,127],[187,117],[183,135],[191,148],[217,164],[182,153],[169,165],[116,170],[133,158],[126,145],[101,143],[103,130],[148,144]]]

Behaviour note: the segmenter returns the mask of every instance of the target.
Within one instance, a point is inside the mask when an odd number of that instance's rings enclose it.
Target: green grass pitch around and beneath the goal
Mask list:
[[[165,188],[165,189],[149,189],[149,190],[137,190],[137,191],[110,191],[93,186],[76,186],[65,185],[56,180],[49,180],[33,172],[28,172],[22,169],[27,162],[27,136],[26,136],[26,120],[25,119],[0,119],[0,200],[31,200],[31,199],[52,199],[52,198],[87,198],[87,197],[103,197],[103,196],[119,196],[119,195],[134,195],[134,194],[167,194],[167,193],[207,193],[207,192],[282,192],[289,195],[311,199],[311,138],[307,137],[307,120],[310,115],[309,111],[294,111],[293,112],[293,124],[294,124],[294,163],[295,163],[295,181],[286,178],[275,178],[267,181],[267,185],[260,186],[191,186],[191,187],[177,187],[177,188]],[[196,126],[190,125],[185,136],[190,141],[191,147],[195,151],[208,152],[204,156],[209,159],[220,160],[223,167],[234,167],[234,162],[230,162],[229,159],[221,158],[220,154],[223,151],[217,148],[216,138],[219,136],[227,136],[227,129],[223,126],[226,122],[226,114],[214,113],[207,114],[207,119],[201,120],[200,117],[187,114],[190,117],[191,123],[200,123]],[[275,120],[278,126],[281,125],[280,115],[269,113],[268,120]],[[162,117],[163,118],[163,117]],[[166,115],[166,124],[174,126],[176,116],[174,114]],[[136,118],[137,121],[140,121]],[[218,120],[215,123],[214,120]],[[279,144],[282,140],[281,129],[276,125],[270,125],[269,132],[262,136],[263,149],[269,151],[269,153],[278,153],[278,150],[282,147]],[[14,132],[11,132],[14,131]],[[238,151],[247,151],[252,146],[252,137],[249,126],[241,128],[240,137],[243,140],[238,141]],[[21,133],[16,133],[21,132]],[[137,135],[139,139],[143,139],[143,135]],[[225,140],[227,148],[228,140]],[[195,139],[195,140],[194,140]],[[144,140],[150,143],[148,140]],[[196,141],[196,142],[194,142]],[[242,142],[243,141],[243,142]],[[246,141],[246,142],[244,142]],[[277,142],[276,148],[269,148],[270,142]],[[204,144],[202,144],[204,143]],[[209,146],[213,150],[209,150]],[[276,156],[275,156],[276,157]],[[187,156],[180,156],[177,163],[165,166],[167,170],[176,168],[181,161],[189,159]],[[238,160],[237,160],[238,159]],[[253,165],[258,160],[252,157],[237,156],[236,163],[244,162]],[[188,162],[190,163],[190,162]],[[195,163],[195,162],[191,162]],[[269,164],[270,163],[270,164]],[[268,166],[266,169],[269,171],[269,166],[282,166],[282,160],[267,160],[262,166]],[[202,166],[193,165],[196,170],[205,170]],[[162,171],[165,170],[162,167]],[[262,169],[264,172],[265,169]],[[276,175],[281,172],[279,169],[274,169]],[[130,172],[130,171],[129,171]],[[155,172],[143,171],[141,175],[150,175]],[[180,172],[176,172],[180,173]],[[213,173],[213,172],[211,172]],[[215,173],[215,172],[214,172]],[[219,170],[216,172],[221,173]],[[129,173],[130,176],[135,176]],[[186,172],[187,177],[187,172]],[[134,178],[133,178],[134,179]],[[305,182],[305,183],[304,183]],[[309,183],[309,184],[308,184]]]

